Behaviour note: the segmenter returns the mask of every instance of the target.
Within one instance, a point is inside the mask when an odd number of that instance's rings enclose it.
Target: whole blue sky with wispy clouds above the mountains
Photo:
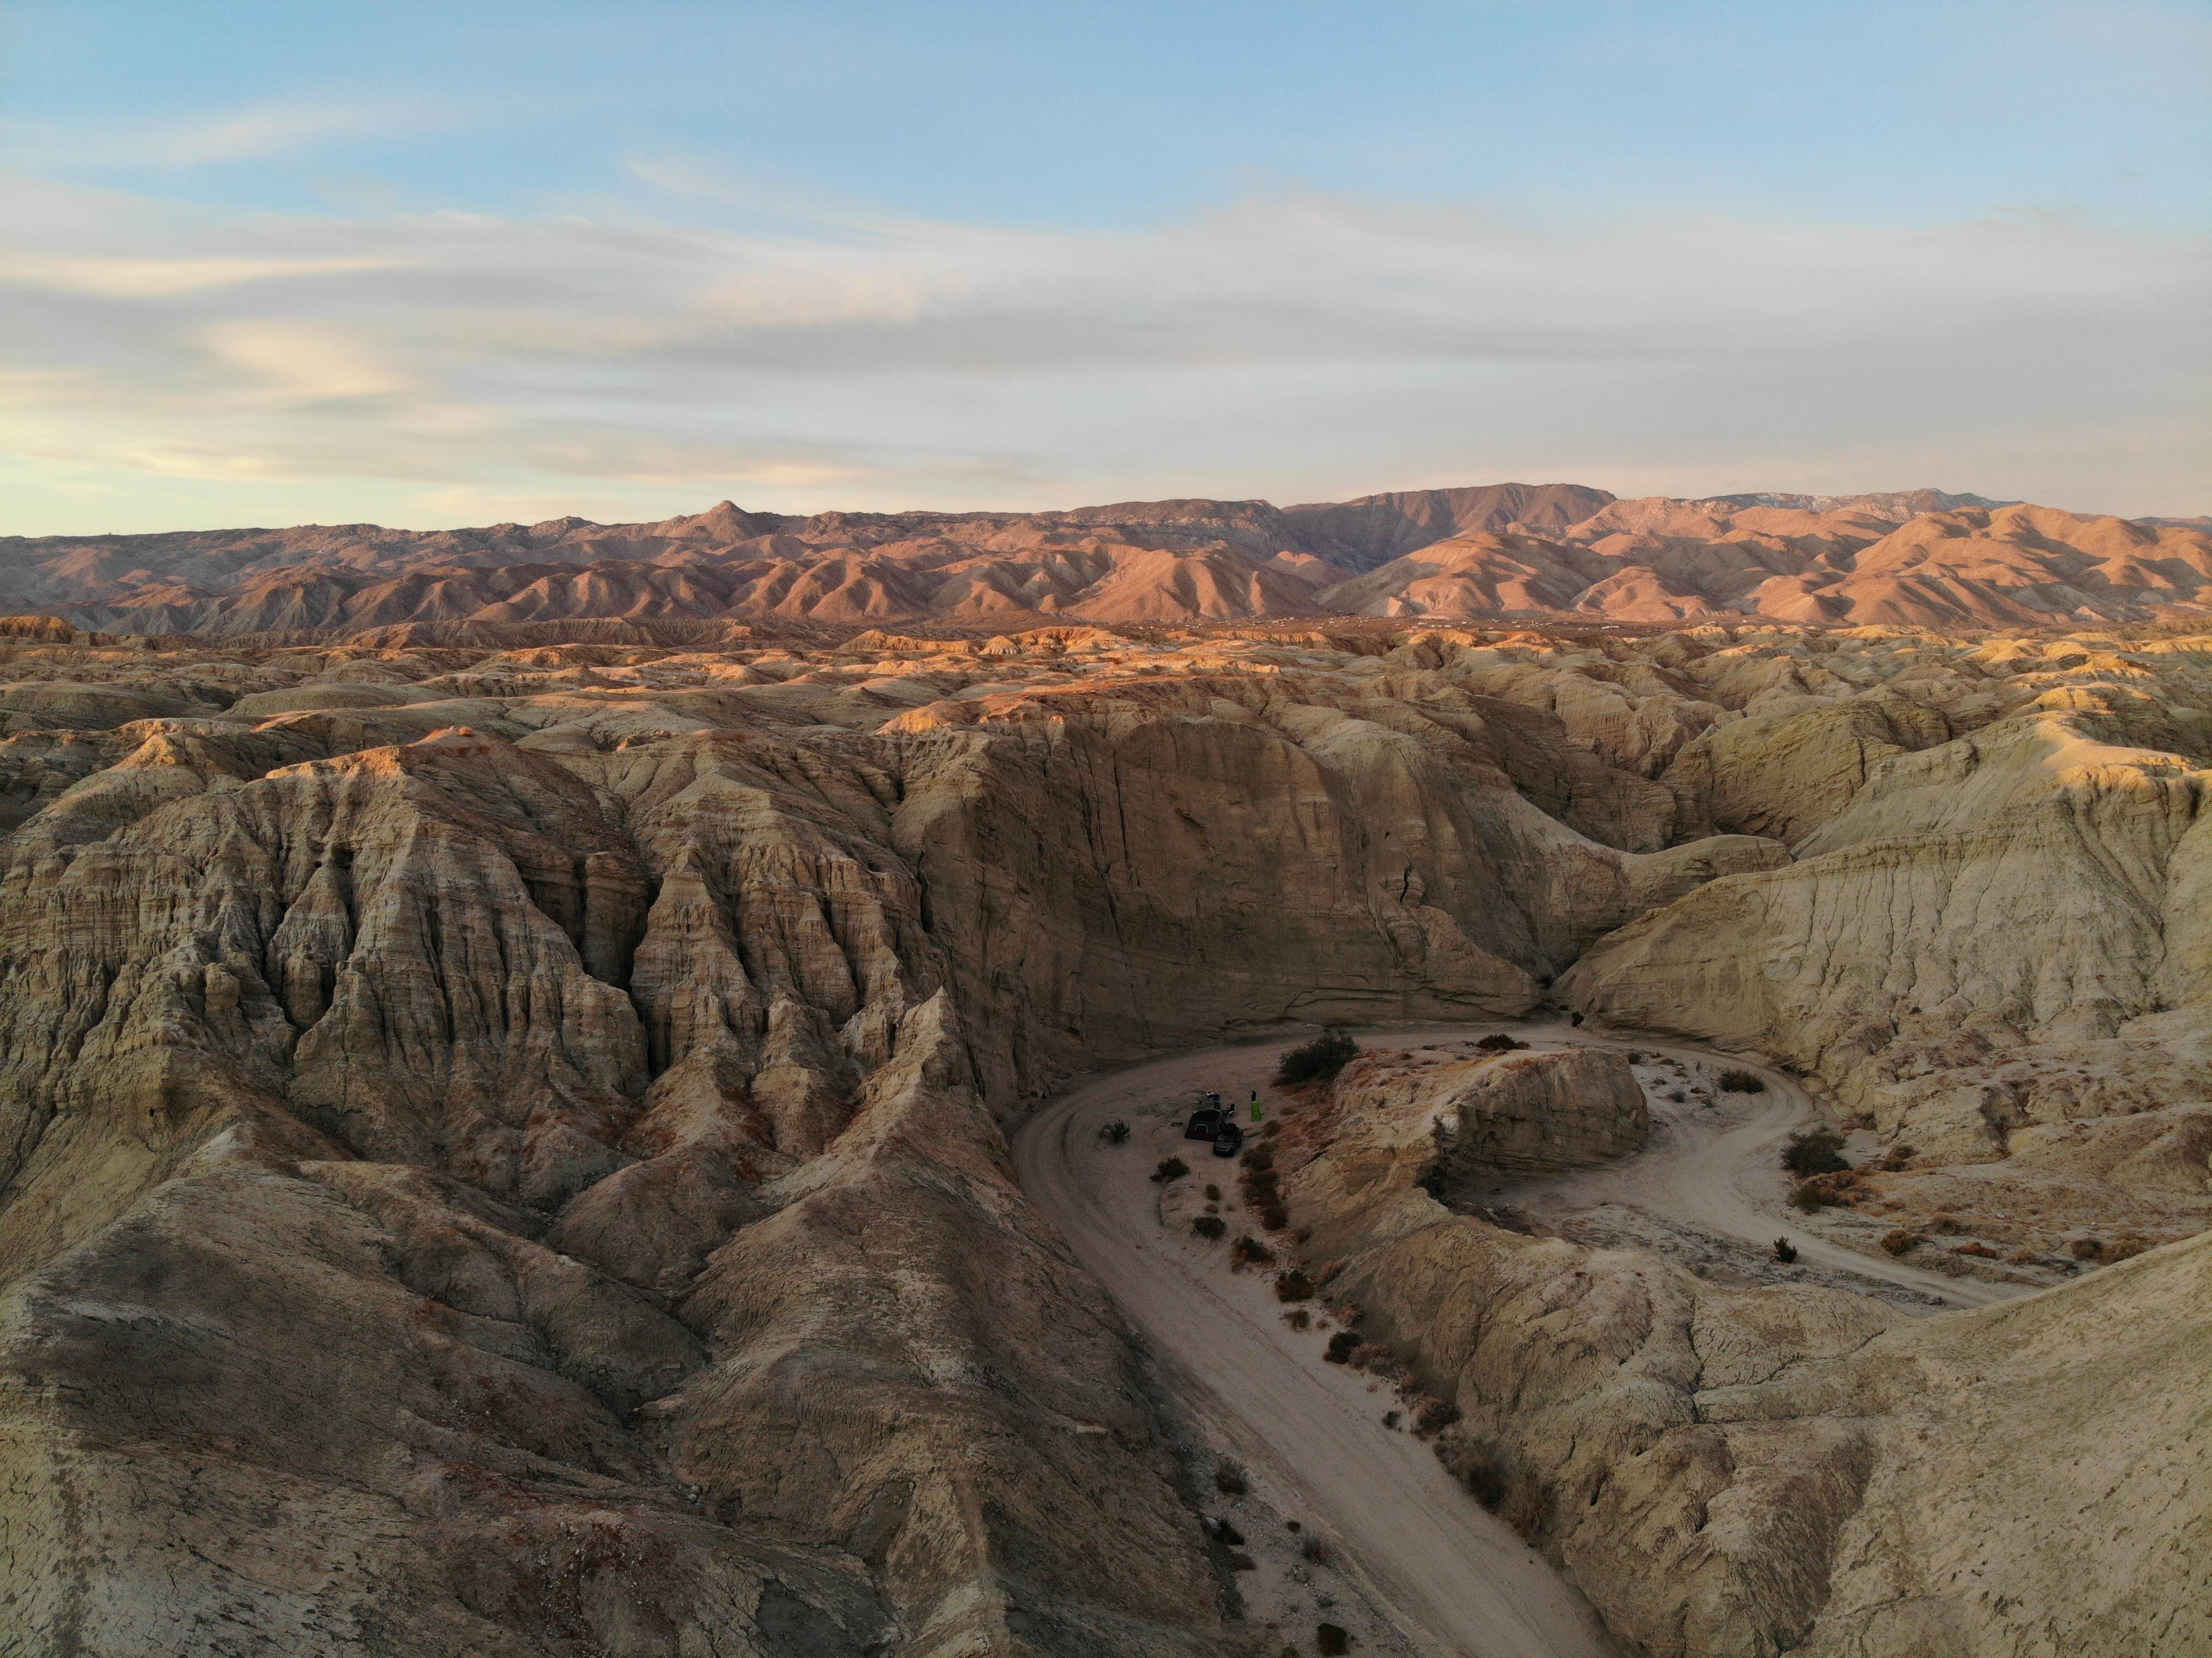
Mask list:
[[[0,0],[0,535],[2212,513],[2212,0]]]

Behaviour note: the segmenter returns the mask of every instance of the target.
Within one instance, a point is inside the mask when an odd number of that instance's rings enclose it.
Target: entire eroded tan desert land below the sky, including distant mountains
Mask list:
[[[2201,528],[7,570],[0,1654],[2212,1649]]]

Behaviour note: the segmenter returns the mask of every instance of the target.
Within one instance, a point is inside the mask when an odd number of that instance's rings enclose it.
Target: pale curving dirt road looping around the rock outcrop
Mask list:
[[[1741,1057],[1571,1030],[1542,1021],[1422,1026],[1354,1032],[1367,1046],[1469,1041],[1513,1028],[1528,1041],[1582,1041],[1686,1061],[1745,1066]],[[1208,1251],[1159,1222],[1159,1187],[1144,1169],[1166,1150],[1190,1152],[1203,1176],[1206,1147],[1181,1145],[1170,1119],[1199,1090],[1239,1101],[1265,1088],[1294,1039],[1203,1048],[1113,1072],[1046,1105],[1013,1136],[1015,1172],[1062,1229],[1084,1267],[1106,1284],[1150,1340],[1179,1397],[1234,1452],[1340,1539],[1352,1567],[1422,1654],[1471,1658],[1604,1658],[1610,1640],[1582,1596],[1500,1519],[1486,1514],[1442,1470],[1429,1448],[1380,1424],[1371,1384],[1318,1362],[1314,1335],[1294,1335],[1252,1276],[1221,1271]],[[1705,1231],[1765,1249],[1792,1231],[1807,1262],[1880,1278],[1947,1304],[2000,1300],[2013,1291],[1940,1278],[1902,1262],[1805,1236],[1781,1211],[1776,1147],[1814,1116],[1792,1079],[1763,1066],[1767,1092],[1745,1112],[1710,1121],[1668,1112],[1652,1145],[1621,1163],[1509,1187],[1509,1200],[1582,1207],[1637,1203]],[[1130,1121],[1128,1145],[1108,1147],[1099,1127]],[[1228,1165],[1223,1165],[1225,1172]]]

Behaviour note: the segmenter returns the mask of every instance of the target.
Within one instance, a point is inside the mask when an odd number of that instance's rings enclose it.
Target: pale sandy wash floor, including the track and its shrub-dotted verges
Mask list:
[[[2017,1293],[1871,1258],[1792,1227],[1778,1152],[1816,1112],[1803,1088],[1772,1068],[1652,1037],[1573,1030],[1564,1021],[1354,1035],[1363,1046],[1420,1048],[1502,1028],[1537,1046],[1577,1041],[1646,1054],[1639,1077],[1652,1101],[1655,1134],[1632,1158],[1491,1187],[1478,1203],[1546,1220],[1586,1216],[1597,1229],[1624,1231],[1621,1242],[1674,1245],[1663,1253],[1677,1258],[1681,1249],[1692,1256],[1703,1249],[1725,1267],[1721,1258],[1732,1253],[1739,1271],[1770,1262],[1774,1238],[1787,1234],[1801,1267],[1770,1273],[1878,1291],[1916,1311]],[[1228,1245],[1188,1229],[1212,1183],[1223,1194],[1228,1236],[1259,1231],[1239,1211],[1237,1165],[1183,1141],[1175,1123],[1203,1090],[1219,1090],[1232,1103],[1259,1090],[1263,1103],[1272,1101],[1267,1077],[1294,1041],[1203,1048],[1077,1088],[1013,1136],[1024,1189],[1144,1333],[1214,1455],[1250,1470],[1252,1490],[1221,1497],[1210,1512],[1245,1539],[1239,1552],[1252,1570],[1237,1574],[1237,1587],[1265,1645],[1312,1651],[1316,1625],[1332,1620],[1354,1634],[1354,1651],[1610,1656],[1613,1643],[1575,1587],[1460,1490],[1427,1444],[1402,1426],[1385,1426],[1398,1399],[1358,1371],[1321,1362],[1327,1320],[1290,1329],[1265,1273],[1230,1271]],[[1723,1066],[1756,1070],[1767,1090],[1719,1094]],[[1670,1101],[1674,1090],[1686,1099]],[[1126,1145],[1108,1145],[1099,1134],[1117,1119],[1130,1125]],[[1243,1108],[1239,1119],[1250,1125]],[[1170,1154],[1192,1174],[1164,1196],[1146,1176]],[[1164,1205],[1172,1227],[1164,1222]],[[1637,1238],[1639,1231],[1652,1238]],[[1323,1563],[1301,1556],[1305,1539],[1321,1539]]]

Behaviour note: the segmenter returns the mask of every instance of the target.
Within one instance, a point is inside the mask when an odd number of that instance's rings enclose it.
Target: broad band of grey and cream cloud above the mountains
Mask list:
[[[608,489],[664,489],[668,511],[710,491],[1321,497],[1531,471],[1785,489],[1805,455],[1902,473],[1865,486],[2212,504],[2174,451],[2212,449],[2201,237],[2048,217],[1562,230],[1281,190],[1150,232],[1035,232],[849,206],[801,223],[785,192],[692,183],[783,223],[27,190],[0,254],[20,321],[0,444],[380,480],[431,513]],[[2112,431],[2146,436],[2115,453]]]

